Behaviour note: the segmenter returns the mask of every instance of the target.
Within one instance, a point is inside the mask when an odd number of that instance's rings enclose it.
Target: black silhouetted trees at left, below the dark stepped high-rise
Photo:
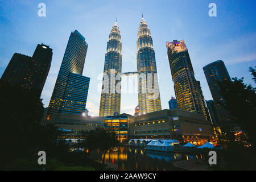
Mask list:
[[[0,102],[1,168],[12,168],[16,160],[37,156],[40,150],[55,156],[68,149],[61,142],[56,146],[56,127],[40,126],[44,107],[37,92],[1,82]]]

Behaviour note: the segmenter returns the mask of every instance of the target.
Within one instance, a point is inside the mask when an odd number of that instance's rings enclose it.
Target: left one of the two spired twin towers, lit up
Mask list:
[[[122,43],[117,21],[110,31],[105,54],[104,76],[100,102],[100,116],[120,114],[122,72]]]

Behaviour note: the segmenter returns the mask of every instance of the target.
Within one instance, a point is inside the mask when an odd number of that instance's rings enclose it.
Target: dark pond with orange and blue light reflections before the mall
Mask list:
[[[90,158],[103,159],[103,152],[92,151]],[[143,148],[119,147],[118,151],[107,152],[105,162],[118,164],[118,170],[180,170],[172,163],[178,160],[194,159],[196,156],[176,152],[148,151]],[[199,157],[200,158],[200,157]]]

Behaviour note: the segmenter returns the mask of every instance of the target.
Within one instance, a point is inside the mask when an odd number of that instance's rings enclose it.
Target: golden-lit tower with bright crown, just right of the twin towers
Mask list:
[[[166,47],[178,108],[206,115],[184,40],[167,42]]]

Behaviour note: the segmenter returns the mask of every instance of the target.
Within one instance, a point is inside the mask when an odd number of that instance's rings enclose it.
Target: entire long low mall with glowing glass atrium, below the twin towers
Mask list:
[[[94,130],[97,126],[114,130],[120,140],[176,139],[180,142],[204,144],[216,142],[212,124],[202,114],[180,109],[164,109],[141,115],[121,114],[109,117],[92,117],[77,114],[55,114],[51,123],[68,135]]]

